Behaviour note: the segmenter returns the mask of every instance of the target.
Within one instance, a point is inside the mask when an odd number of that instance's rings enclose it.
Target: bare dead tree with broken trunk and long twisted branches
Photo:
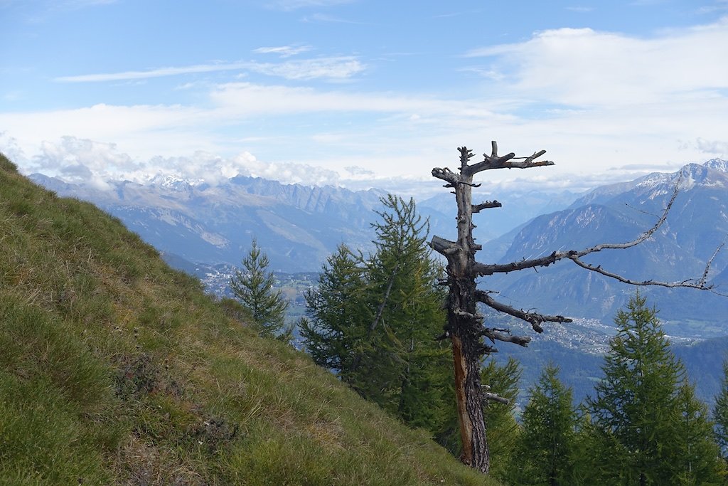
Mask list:
[[[585,262],[582,257],[587,254],[596,253],[608,249],[622,249],[636,246],[649,238],[667,218],[670,206],[673,204],[676,192],[670,199],[664,213],[656,224],[646,232],[639,235],[636,240],[628,243],[602,243],[591,248],[579,251],[554,251],[552,254],[536,259],[523,259],[518,262],[506,264],[483,264],[475,260],[475,253],[482,246],[475,244],[472,237],[473,213],[479,213],[486,208],[499,208],[501,203],[497,200],[485,201],[479,204],[472,203],[472,188],[480,184],[473,183],[473,176],[476,173],[489,169],[499,168],[531,168],[553,165],[554,162],[539,161],[536,159],[546,153],[545,150],[535,152],[530,157],[515,157],[515,154],[498,155],[496,142],[492,142],[490,155],[484,154],[483,161],[470,165],[472,152],[466,147],[458,149],[460,152],[460,168],[453,172],[448,168],[433,168],[432,176],[446,181],[444,187],[453,189],[457,203],[457,240],[449,241],[438,236],[433,236],[430,246],[447,259],[447,278],[441,283],[449,287],[448,294],[448,322],[446,324],[443,338],[449,337],[452,341],[454,368],[455,368],[455,390],[457,399],[457,411],[462,438],[462,461],[472,468],[483,473],[488,473],[490,458],[488,454],[488,442],[486,440],[486,424],[483,420],[483,403],[485,401],[506,401],[490,393],[487,385],[480,383],[480,364],[483,356],[496,351],[496,341],[513,342],[517,345],[527,346],[531,341],[527,336],[515,336],[510,334],[508,329],[496,329],[486,326],[483,316],[478,313],[478,302],[491,307],[499,312],[512,315],[527,321],[535,332],[542,332],[542,324],[545,322],[571,322],[570,318],[563,315],[544,315],[540,313],[524,311],[497,302],[491,297],[491,292],[478,290],[475,286],[475,279],[484,275],[495,273],[507,273],[525,268],[547,267],[561,259],[570,259],[580,267],[596,273],[601,273],[610,278],[615,278],[624,283],[634,285],[657,285],[668,287],[692,287],[695,289],[712,289],[706,285],[708,270],[715,257],[708,261],[702,278],[682,282],[660,282],[660,281],[633,281],[616,273],[604,270],[601,266],[595,266]],[[719,248],[720,249],[720,248]],[[717,253],[718,250],[716,250]],[[484,342],[484,338],[488,342]]]

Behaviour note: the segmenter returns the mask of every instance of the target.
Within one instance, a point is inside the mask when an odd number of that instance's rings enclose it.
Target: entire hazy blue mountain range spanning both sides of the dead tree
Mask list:
[[[109,181],[106,189],[66,184],[41,174],[31,179],[58,195],[95,203],[162,251],[168,262],[186,270],[200,264],[240,264],[256,238],[272,270],[316,272],[339,243],[371,250],[371,222],[385,195],[377,189],[353,192],[244,176],[215,186],[158,176],[147,184]],[[483,244],[478,259],[514,262],[555,250],[633,240],[657,221],[676,184],[678,197],[658,232],[635,248],[593,254],[589,262],[634,280],[700,277],[705,262],[728,235],[728,162],[720,159],[583,194],[503,194],[503,208],[476,216],[475,238]],[[492,197],[474,194],[474,200],[486,199]],[[418,209],[429,219],[431,234],[454,238],[451,195],[443,192],[423,200]],[[716,286],[725,283],[728,252],[716,255],[708,278]],[[499,299],[515,307],[606,322],[635,291],[568,261],[537,272],[496,275],[482,286],[499,291]],[[693,337],[725,334],[726,297],[691,289],[642,291],[662,311],[669,332]]]

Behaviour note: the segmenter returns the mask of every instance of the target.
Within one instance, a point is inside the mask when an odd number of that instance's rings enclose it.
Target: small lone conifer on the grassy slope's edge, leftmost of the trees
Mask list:
[[[273,337],[284,330],[288,301],[283,298],[280,289],[273,289],[275,278],[268,271],[269,264],[268,256],[253,239],[248,255],[242,259],[245,271],[235,271],[230,279],[230,290],[250,311],[261,336]],[[290,334],[290,329],[283,334]]]

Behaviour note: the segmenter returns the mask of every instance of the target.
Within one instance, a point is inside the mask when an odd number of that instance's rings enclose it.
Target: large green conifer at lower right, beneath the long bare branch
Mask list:
[[[656,314],[639,294],[617,313],[605,377],[588,400],[601,482],[703,484],[714,477],[705,413],[692,387],[681,387],[684,367]]]

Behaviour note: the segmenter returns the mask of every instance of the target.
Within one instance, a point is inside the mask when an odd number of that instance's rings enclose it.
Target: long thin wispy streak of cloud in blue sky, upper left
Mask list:
[[[107,82],[149,79],[182,74],[210,73],[215,71],[253,71],[286,79],[331,78],[344,79],[363,71],[365,66],[351,56],[312,58],[284,63],[237,63],[197,64],[194,66],[165,67],[147,71],[123,71],[119,73],[80,74],[55,78],[56,82]]]

